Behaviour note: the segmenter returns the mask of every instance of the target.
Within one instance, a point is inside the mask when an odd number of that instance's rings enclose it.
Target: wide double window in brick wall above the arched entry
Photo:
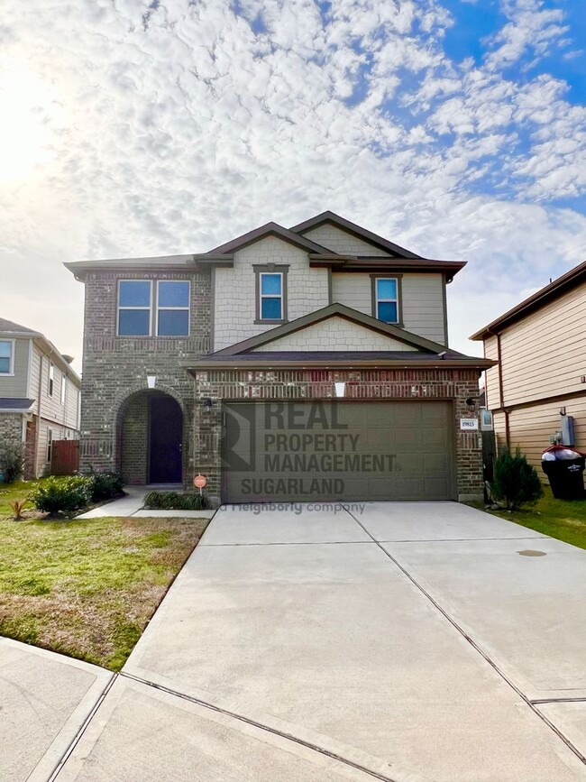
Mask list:
[[[188,336],[187,280],[121,280],[118,336]]]

